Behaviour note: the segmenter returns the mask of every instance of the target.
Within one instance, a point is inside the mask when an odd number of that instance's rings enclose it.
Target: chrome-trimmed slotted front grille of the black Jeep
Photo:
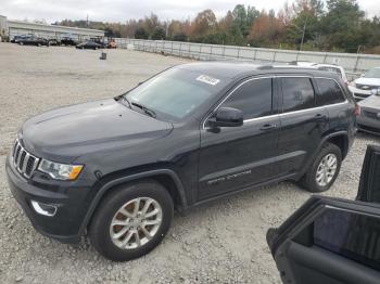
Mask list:
[[[37,168],[39,159],[28,153],[16,140],[13,147],[13,164],[17,171],[25,178],[30,178],[34,170]]]

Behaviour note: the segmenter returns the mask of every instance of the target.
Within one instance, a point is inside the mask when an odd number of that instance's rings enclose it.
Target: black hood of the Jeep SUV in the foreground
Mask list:
[[[20,133],[39,157],[72,162],[75,157],[162,138],[169,122],[135,112],[113,99],[66,106],[27,120]]]

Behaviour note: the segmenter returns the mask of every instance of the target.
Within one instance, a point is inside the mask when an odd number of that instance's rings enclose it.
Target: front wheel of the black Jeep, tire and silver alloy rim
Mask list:
[[[116,188],[92,218],[91,244],[102,256],[114,261],[141,257],[164,238],[173,212],[172,196],[155,181]]]

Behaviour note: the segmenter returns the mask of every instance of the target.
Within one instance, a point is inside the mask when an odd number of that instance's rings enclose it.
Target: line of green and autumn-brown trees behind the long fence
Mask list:
[[[126,23],[64,20],[55,24],[103,29],[110,37],[380,53],[380,17],[368,18],[357,0],[295,0],[277,13],[238,4],[220,18],[207,9],[186,21],[162,21],[151,13]]]

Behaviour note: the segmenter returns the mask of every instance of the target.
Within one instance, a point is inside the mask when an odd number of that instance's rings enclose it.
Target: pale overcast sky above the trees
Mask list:
[[[358,0],[367,16],[380,16],[379,0]],[[10,20],[46,20],[48,23],[86,20],[124,23],[141,18],[151,12],[161,20],[193,18],[197,13],[212,9],[221,17],[236,4],[255,7],[257,10],[280,10],[286,0],[1,0],[0,15]],[[289,0],[292,2],[292,0]]]

